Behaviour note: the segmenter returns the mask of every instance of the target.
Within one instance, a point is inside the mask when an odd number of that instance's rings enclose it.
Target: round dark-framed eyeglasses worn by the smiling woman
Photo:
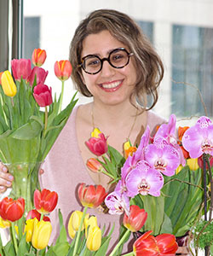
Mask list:
[[[101,71],[103,61],[108,61],[114,68],[122,68],[129,64],[132,55],[134,54],[129,53],[124,48],[113,49],[108,58],[101,59],[98,55],[86,55],[82,58],[82,63],[78,67],[82,67],[85,73],[95,74]]]

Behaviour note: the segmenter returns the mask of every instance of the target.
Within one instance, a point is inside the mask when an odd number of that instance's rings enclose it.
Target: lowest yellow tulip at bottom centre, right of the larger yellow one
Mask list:
[[[101,247],[101,230],[98,226],[89,227],[86,245],[89,251],[97,251]]]

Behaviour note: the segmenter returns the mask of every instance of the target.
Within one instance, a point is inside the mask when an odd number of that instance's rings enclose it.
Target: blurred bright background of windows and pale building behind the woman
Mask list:
[[[59,95],[55,61],[68,59],[78,22],[103,8],[130,15],[162,57],[165,75],[156,113],[165,118],[176,113],[178,119],[213,116],[212,0],[0,0],[0,72],[10,68],[11,59],[31,58],[33,49],[45,49],[45,84]],[[75,91],[71,79],[65,90],[64,105]],[[78,103],[89,101],[78,97]]]

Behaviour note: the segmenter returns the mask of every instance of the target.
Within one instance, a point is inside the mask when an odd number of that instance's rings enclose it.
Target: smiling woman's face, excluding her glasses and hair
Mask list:
[[[130,52],[130,49],[116,38],[113,38],[110,32],[104,30],[96,34],[90,34],[83,40],[81,57],[98,55],[101,59],[107,58],[113,49],[121,47]],[[107,105],[130,102],[130,93],[135,88],[136,81],[134,56],[131,56],[129,64],[122,68],[114,68],[108,61],[103,61],[103,66],[99,73],[89,74],[82,69],[82,79],[94,96],[95,102]]]

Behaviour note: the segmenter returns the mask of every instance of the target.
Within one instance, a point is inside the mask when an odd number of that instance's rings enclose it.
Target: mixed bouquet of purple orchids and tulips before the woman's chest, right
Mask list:
[[[129,214],[132,205],[144,208],[148,217],[140,231],[153,230],[155,236],[164,232],[184,236],[193,230],[193,224],[204,214],[206,189],[198,158],[213,154],[212,128],[210,119],[201,117],[191,128],[179,127],[176,138],[176,116],[172,114],[154,137],[147,126],[138,148],[126,143],[125,157],[107,145],[107,137],[96,128],[87,145],[98,158],[89,159],[87,166],[115,183],[105,200],[109,213]],[[212,186],[211,172],[208,180]],[[207,196],[210,207],[212,193]]]

